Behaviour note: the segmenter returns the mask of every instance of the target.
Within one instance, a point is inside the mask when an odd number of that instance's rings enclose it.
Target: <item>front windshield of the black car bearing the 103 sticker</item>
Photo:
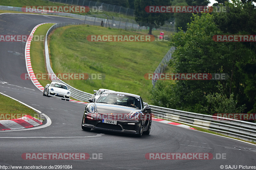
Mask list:
[[[124,94],[118,94],[118,93],[116,94],[104,93],[99,97],[96,103],[107,103],[107,104],[121,105],[121,106],[141,109],[140,99],[136,97],[124,95]]]

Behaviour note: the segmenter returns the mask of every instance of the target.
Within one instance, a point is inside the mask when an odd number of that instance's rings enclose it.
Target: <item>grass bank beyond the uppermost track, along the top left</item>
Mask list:
[[[44,1],[44,0],[0,0],[0,5],[4,6],[16,6],[16,7],[23,7],[23,6],[64,6],[68,4],[60,4],[60,3],[54,3],[51,1]],[[70,6],[70,5],[69,5]],[[73,13],[73,12],[70,12]],[[99,14],[106,14],[112,19],[112,16],[115,18],[121,17],[121,18],[128,18],[128,19],[134,19],[132,16],[126,16],[124,14],[119,14],[115,12],[107,12],[107,11],[102,11],[102,12],[87,12],[87,13],[74,13],[78,15],[99,15]],[[101,16],[97,16],[101,18]],[[106,18],[106,17],[104,17]]]

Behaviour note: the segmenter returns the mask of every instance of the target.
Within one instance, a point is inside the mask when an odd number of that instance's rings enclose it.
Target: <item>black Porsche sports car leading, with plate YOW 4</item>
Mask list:
[[[152,123],[151,109],[141,97],[124,92],[103,92],[84,110],[82,129],[102,129],[122,133],[149,134]]]

